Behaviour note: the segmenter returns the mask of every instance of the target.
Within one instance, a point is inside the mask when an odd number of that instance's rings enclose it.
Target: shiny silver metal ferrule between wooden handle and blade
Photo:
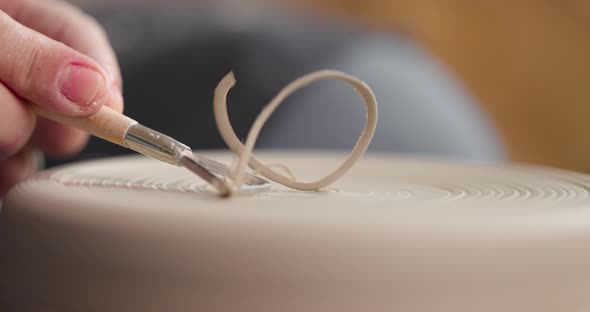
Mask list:
[[[127,129],[125,143],[136,152],[177,166],[180,165],[182,152],[191,150],[175,139],[140,124]]]

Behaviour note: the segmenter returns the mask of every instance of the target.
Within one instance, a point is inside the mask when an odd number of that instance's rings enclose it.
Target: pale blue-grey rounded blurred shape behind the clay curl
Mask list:
[[[475,161],[504,158],[487,116],[440,64],[406,38],[356,38],[324,66],[360,77],[375,92],[379,124],[373,150]],[[326,84],[303,90],[264,142],[352,148],[352,138],[364,126],[364,106],[347,89]]]

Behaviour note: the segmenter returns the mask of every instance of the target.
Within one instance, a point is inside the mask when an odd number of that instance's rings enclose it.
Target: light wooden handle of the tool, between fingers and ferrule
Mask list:
[[[33,111],[61,124],[84,130],[101,139],[127,147],[125,132],[129,126],[137,122],[109,107],[103,106],[98,112],[90,116],[66,116],[45,110],[37,105],[31,105]]]

